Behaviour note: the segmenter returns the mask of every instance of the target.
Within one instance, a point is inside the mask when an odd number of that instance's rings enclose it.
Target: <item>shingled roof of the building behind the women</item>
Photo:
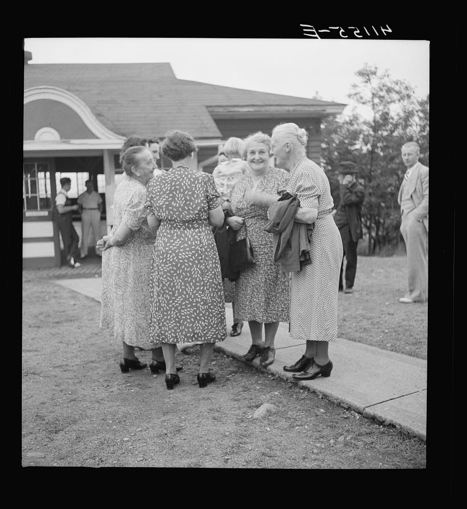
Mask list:
[[[178,79],[169,63],[26,64],[24,89],[58,87],[76,95],[108,129],[122,136],[162,136],[181,129],[219,138],[216,118],[323,117],[345,104]]]

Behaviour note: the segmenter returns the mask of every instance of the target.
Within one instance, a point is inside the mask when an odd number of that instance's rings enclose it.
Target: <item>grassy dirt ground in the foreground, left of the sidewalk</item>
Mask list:
[[[23,272],[24,467],[426,467],[422,440],[221,351],[211,366],[217,380],[205,389],[196,383],[196,349],[178,353],[174,390],[149,368],[122,374],[120,347],[99,328],[99,312],[96,301]],[[255,417],[264,403],[274,411]]]

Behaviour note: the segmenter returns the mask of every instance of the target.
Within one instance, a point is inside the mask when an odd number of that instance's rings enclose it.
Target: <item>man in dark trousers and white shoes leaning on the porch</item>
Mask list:
[[[76,262],[78,256],[79,237],[73,226],[72,213],[78,210],[78,205],[72,205],[68,198],[68,191],[71,187],[71,180],[68,177],[60,179],[62,189],[55,196],[55,206],[57,210],[56,223],[62,235],[63,247],[67,256],[69,267],[80,267],[81,264]]]

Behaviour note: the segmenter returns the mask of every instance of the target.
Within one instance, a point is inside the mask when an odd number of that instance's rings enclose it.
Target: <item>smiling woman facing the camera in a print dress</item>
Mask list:
[[[235,282],[236,316],[248,322],[252,338],[243,359],[251,362],[260,355],[260,366],[267,367],[274,362],[279,322],[288,322],[289,318],[289,278],[274,265],[272,235],[263,230],[269,221],[268,206],[253,203],[250,196],[273,195],[277,200],[287,186],[288,173],[270,166],[271,138],[267,134],[257,132],[246,138],[245,150],[250,172],[230,191],[228,203],[234,215],[227,217],[226,224],[238,231],[237,240],[247,233],[256,259],[254,265],[240,272]]]

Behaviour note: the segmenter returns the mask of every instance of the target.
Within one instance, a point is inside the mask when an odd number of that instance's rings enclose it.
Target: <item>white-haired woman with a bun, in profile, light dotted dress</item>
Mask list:
[[[300,209],[295,220],[315,222],[310,241],[312,263],[290,273],[290,335],[306,340],[305,354],[284,371],[296,380],[328,377],[333,364],[328,346],[337,337],[337,296],[343,249],[331,210],[333,200],[323,170],[305,156],[307,132],[296,124],[273,129],[277,165],[290,172],[287,191],[296,194]]]

